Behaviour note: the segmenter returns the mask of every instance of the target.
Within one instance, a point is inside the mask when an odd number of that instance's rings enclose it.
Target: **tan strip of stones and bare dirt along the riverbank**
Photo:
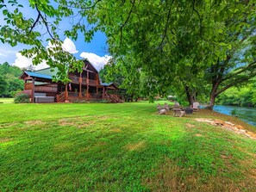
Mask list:
[[[218,119],[213,120],[213,119],[205,119],[205,118],[197,118],[195,120],[198,122],[207,122],[210,125],[213,125],[215,127],[225,128],[234,133],[245,135],[246,137],[248,137],[250,139],[256,139],[256,133],[247,131],[244,127],[242,127],[240,125],[235,125],[234,123],[229,122],[229,121],[222,121],[222,120],[218,120]]]

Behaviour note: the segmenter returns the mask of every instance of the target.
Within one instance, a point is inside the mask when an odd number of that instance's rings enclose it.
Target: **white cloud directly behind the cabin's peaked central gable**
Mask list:
[[[86,52],[81,53],[80,57],[84,59],[88,59],[91,62],[91,64],[95,66],[97,71],[102,69],[103,66],[108,63],[109,59],[111,59],[111,56],[109,55],[100,57],[95,53],[86,53]]]

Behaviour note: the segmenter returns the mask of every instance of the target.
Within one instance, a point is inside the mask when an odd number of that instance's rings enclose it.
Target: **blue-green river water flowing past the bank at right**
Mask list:
[[[256,127],[256,108],[242,108],[228,105],[215,105],[214,107],[216,112],[225,115],[231,115],[231,111],[234,109],[236,110],[236,115],[240,120],[246,121]]]

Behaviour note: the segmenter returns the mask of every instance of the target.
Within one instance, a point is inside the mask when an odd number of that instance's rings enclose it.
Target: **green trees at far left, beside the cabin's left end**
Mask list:
[[[0,65],[0,96],[11,97],[17,91],[23,90],[23,81],[19,79],[22,70],[7,62]]]

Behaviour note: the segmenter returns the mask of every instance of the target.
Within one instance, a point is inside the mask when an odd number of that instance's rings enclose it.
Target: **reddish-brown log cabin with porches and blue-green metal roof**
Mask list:
[[[90,61],[84,60],[82,72],[69,72],[71,82],[53,82],[57,69],[46,68],[38,71],[24,71],[22,92],[30,96],[31,102],[79,102],[108,100],[122,102],[119,89],[114,83],[102,83],[97,69]]]

